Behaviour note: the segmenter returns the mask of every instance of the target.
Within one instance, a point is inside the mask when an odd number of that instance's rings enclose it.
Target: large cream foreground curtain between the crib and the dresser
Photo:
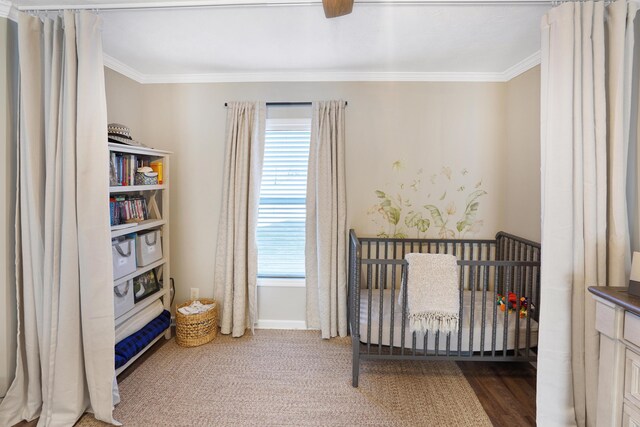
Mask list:
[[[635,13],[626,0],[608,10],[589,1],[542,20],[538,425],[595,425],[599,341],[587,287],[626,284]]]

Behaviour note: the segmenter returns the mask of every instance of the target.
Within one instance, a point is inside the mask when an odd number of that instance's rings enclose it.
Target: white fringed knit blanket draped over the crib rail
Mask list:
[[[456,257],[412,253],[405,259],[409,264],[406,286],[410,330],[423,334],[456,332],[460,312]]]

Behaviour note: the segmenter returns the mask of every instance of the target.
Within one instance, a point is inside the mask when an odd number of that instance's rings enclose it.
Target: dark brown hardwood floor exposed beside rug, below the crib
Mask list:
[[[529,363],[458,362],[496,427],[536,425],[536,369]]]

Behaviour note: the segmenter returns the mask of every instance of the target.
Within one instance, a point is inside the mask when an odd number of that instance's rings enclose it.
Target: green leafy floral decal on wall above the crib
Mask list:
[[[391,169],[399,178],[405,167],[396,160]],[[390,191],[375,190],[377,203],[368,215],[378,228],[378,237],[463,238],[479,232],[484,225],[478,219],[480,198],[487,194],[482,180],[474,183],[467,169],[456,172],[444,166],[429,176],[423,190],[423,174],[419,169],[413,179],[396,179]]]

